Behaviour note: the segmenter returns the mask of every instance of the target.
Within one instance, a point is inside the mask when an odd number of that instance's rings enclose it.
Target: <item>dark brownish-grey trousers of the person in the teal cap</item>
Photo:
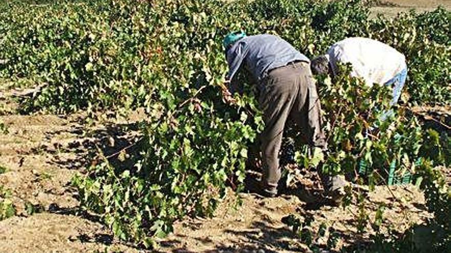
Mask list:
[[[269,72],[261,80],[259,106],[265,128],[261,134],[263,184],[277,188],[281,176],[279,151],[285,122],[290,117],[308,143],[325,148],[321,130],[321,105],[308,62],[289,63]]]

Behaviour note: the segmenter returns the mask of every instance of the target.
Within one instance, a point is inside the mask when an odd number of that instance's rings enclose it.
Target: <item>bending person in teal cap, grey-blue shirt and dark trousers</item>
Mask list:
[[[234,102],[230,82],[241,65],[257,81],[258,103],[265,128],[261,134],[263,179],[261,194],[275,196],[281,176],[279,151],[286,120],[290,117],[313,147],[326,148],[321,130],[320,101],[310,60],[280,37],[262,34],[246,36],[234,32],[223,41],[229,73],[223,97]]]

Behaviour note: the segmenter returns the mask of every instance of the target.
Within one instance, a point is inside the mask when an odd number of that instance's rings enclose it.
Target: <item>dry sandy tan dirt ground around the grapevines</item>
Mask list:
[[[399,11],[416,8],[430,10],[438,5],[451,8],[451,0],[417,1],[393,0],[395,5],[381,4],[374,13],[396,15]],[[8,252],[142,252],[133,245],[118,242],[110,230],[95,216],[78,209],[70,180],[83,173],[89,165],[90,152],[96,148],[113,153],[135,140],[129,131],[142,113],[128,120],[86,120],[83,113],[69,116],[19,115],[15,112],[15,96],[24,96],[33,89],[13,88],[0,81],[0,122],[9,133],[0,133],[0,186],[11,190],[17,215],[0,221],[0,253]],[[430,108],[417,108],[426,114]],[[449,121],[449,107],[434,109],[433,116]],[[100,117],[101,118],[101,117]],[[128,128],[128,130],[127,130]],[[130,133],[131,132],[131,133]],[[449,173],[451,178],[451,173]],[[296,195],[262,199],[243,193],[243,203],[234,208],[232,192],[224,198],[212,219],[186,219],[175,224],[174,233],[162,239],[159,252],[306,252],[305,245],[295,239],[289,227],[281,222],[286,215],[314,217],[314,227],[325,222],[342,235],[341,244],[352,244],[371,235],[355,231],[358,206],[346,209],[324,205],[309,208]],[[35,214],[28,215],[26,206],[32,204]],[[430,214],[424,197],[414,186],[379,186],[368,193],[365,205],[376,210],[384,203],[384,227],[404,231],[413,223],[421,223]],[[370,216],[371,220],[374,217]],[[324,244],[325,242],[320,242]]]

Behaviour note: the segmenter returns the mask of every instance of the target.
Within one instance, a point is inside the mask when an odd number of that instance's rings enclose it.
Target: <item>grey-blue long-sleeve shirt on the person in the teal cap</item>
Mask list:
[[[229,49],[227,80],[233,79],[243,61],[257,81],[265,78],[268,72],[276,67],[293,61],[310,62],[309,58],[297,51],[290,43],[270,34],[244,37]]]

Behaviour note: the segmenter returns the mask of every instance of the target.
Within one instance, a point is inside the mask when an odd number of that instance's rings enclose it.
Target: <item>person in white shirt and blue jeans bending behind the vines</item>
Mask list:
[[[387,44],[369,38],[347,38],[336,42],[325,55],[312,60],[312,72],[337,75],[337,62],[351,63],[351,76],[362,78],[366,85],[392,86],[391,105],[398,102],[407,77],[405,57]]]

